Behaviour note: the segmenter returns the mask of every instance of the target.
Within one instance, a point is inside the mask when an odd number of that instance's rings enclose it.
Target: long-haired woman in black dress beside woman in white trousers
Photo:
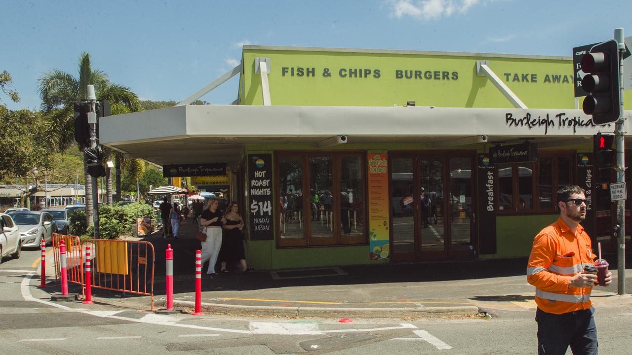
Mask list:
[[[224,213],[226,224],[224,224],[224,234],[222,235],[222,248],[219,251],[219,261],[222,265],[222,272],[228,272],[226,263],[241,264],[243,272],[254,270],[246,264],[246,253],[243,248],[243,219],[239,214],[239,205],[231,202]]]

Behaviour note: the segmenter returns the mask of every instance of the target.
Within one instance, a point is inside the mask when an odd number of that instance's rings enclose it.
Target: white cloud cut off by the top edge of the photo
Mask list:
[[[463,15],[481,0],[396,0],[391,1],[392,15],[397,18],[411,16],[420,20],[438,20],[452,16],[455,12]]]

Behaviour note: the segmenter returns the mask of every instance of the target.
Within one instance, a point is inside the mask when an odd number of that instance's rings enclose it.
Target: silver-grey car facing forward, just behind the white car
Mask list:
[[[52,234],[57,232],[57,224],[48,212],[16,212],[11,218],[20,229],[23,247],[40,246],[42,240],[52,242]]]

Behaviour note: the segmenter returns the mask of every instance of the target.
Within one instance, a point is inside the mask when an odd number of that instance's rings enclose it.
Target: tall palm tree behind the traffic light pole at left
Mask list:
[[[79,76],[53,69],[39,79],[39,92],[42,99],[41,109],[47,117],[47,139],[52,147],[63,152],[73,145],[75,122],[73,104],[77,100],[87,99],[88,84],[94,85],[97,99],[108,100],[111,104],[125,107],[127,112],[140,111],[138,96],[130,88],[112,84],[106,73],[92,69],[90,54],[82,52],[79,57]],[[79,147],[81,150],[85,147]],[[107,153],[107,152],[106,152]],[[87,173],[87,162],[83,162],[85,173],[87,222],[92,222],[92,179]],[[106,169],[111,190],[111,169]],[[111,191],[109,191],[111,196]],[[111,197],[108,198],[111,203]]]

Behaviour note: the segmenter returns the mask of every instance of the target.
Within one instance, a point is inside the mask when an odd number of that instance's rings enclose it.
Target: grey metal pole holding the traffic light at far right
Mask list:
[[[626,181],[626,163],[625,163],[625,143],[623,131],[623,124],[625,123],[625,116],[623,111],[623,54],[625,53],[623,28],[615,28],[614,39],[619,45],[619,103],[621,109],[619,110],[619,121],[616,124],[616,131],[614,132],[617,140],[617,165],[615,170],[617,172],[617,183],[625,183]],[[625,201],[617,201],[617,224],[619,224],[619,248],[617,248],[617,293],[626,293],[626,226],[625,226]]]

